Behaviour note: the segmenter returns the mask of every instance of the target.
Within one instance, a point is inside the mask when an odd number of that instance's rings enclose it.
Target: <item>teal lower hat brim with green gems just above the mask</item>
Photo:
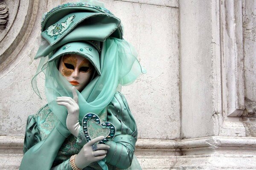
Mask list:
[[[95,67],[97,73],[101,75],[100,64],[99,64],[99,52],[96,48],[88,42],[69,42],[57,51],[49,58],[48,62],[51,62],[65,54],[78,54],[88,59]]]

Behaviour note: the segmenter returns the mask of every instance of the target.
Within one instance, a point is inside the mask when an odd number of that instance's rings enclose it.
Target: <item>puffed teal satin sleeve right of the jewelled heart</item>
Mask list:
[[[116,135],[110,146],[106,160],[120,169],[131,166],[135,143],[137,141],[137,126],[131,114],[128,103],[120,92],[117,92],[111,104],[108,105],[108,121],[116,127]]]

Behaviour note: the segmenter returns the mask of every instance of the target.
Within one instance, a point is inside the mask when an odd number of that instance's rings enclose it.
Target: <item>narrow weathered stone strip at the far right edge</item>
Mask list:
[[[256,117],[256,1],[243,0],[244,82],[245,105],[243,116]]]

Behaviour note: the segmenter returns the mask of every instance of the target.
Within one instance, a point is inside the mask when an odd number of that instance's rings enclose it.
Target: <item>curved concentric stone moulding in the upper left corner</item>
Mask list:
[[[37,1],[0,0],[0,71],[16,59],[17,46],[26,42],[22,39],[31,29],[28,26],[33,22],[32,13],[37,10],[33,6],[38,4]]]

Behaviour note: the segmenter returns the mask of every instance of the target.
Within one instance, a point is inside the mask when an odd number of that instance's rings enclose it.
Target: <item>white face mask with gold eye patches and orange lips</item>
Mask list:
[[[82,91],[90,81],[94,67],[89,60],[78,54],[67,54],[61,57],[58,70],[71,85]]]

